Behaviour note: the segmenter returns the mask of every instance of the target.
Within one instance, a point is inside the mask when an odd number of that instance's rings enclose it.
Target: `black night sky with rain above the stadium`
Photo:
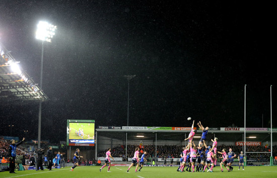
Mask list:
[[[41,139],[66,140],[67,119],[96,126],[270,127],[276,111],[273,5],[241,1],[1,1],[0,40],[39,83],[40,20],[57,25],[44,43]],[[1,108],[1,130],[37,138],[38,104]],[[263,119],[262,119],[263,118]],[[277,121],[273,127],[277,127]],[[33,128],[33,129],[31,129]],[[26,136],[26,135],[25,135]]]

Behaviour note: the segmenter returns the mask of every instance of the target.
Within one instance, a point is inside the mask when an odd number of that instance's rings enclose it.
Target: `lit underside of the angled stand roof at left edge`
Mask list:
[[[0,104],[46,101],[48,97],[18,65],[18,61],[0,42]]]

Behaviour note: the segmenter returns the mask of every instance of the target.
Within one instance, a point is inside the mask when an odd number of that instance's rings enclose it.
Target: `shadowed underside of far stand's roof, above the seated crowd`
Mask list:
[[[189,135],[189,131],[175,131],[175,132],[165,132],[165,131],[152,131],[149,130],[112,130],[112,129],[96,129],[97,137],[103,136],[117,140],[126,140],[126,132],[127,132],[127,140],[156,140],[156,133],[157,133],[157,140],[170,140],[170,141],[182,141]],[[198,130],[194,136],[194,140],[200,140],[200,136],[202,131]],[[223,140],[224,142],[236,142],[236,141],[243,141],[243,134],[244,132],[226,132],[226,131],[209,131],[206,137],[207,142],[211,139],[217,137],[219,141]],[[144,136],[144,137],[137,137],[137,135]],[[198,136],[198,138],[197,138]],[[249,138],[255,137],[255,138]],[[246,141],[270,141],[270,131],[246,131]],[[272,131],[272,141],[277,141],[277,132]]]

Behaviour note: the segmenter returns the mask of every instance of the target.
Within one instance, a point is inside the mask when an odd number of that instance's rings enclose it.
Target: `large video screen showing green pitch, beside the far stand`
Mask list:
[[[68,146],[94,146],[94,120],[67,120]]]

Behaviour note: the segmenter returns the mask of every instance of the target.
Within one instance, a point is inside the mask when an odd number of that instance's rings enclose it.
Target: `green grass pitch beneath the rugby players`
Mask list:
[[[101,166],[78,166],[74,171],[70,171],[70,167],[52,170],[23,170],[17,173],[9,173],[9,171],[0,172],[0,177],[277,177],[277,166],[246,166],[238,170],[234,166],[232,172],[220,172],[220,166],[214,168],[214,172],[177,172],[177,167],[144,167],[141,172],[134,172],[135,167],[131,167],[129,173],[126,172],[126,166],[104,167],[100,172]]]

